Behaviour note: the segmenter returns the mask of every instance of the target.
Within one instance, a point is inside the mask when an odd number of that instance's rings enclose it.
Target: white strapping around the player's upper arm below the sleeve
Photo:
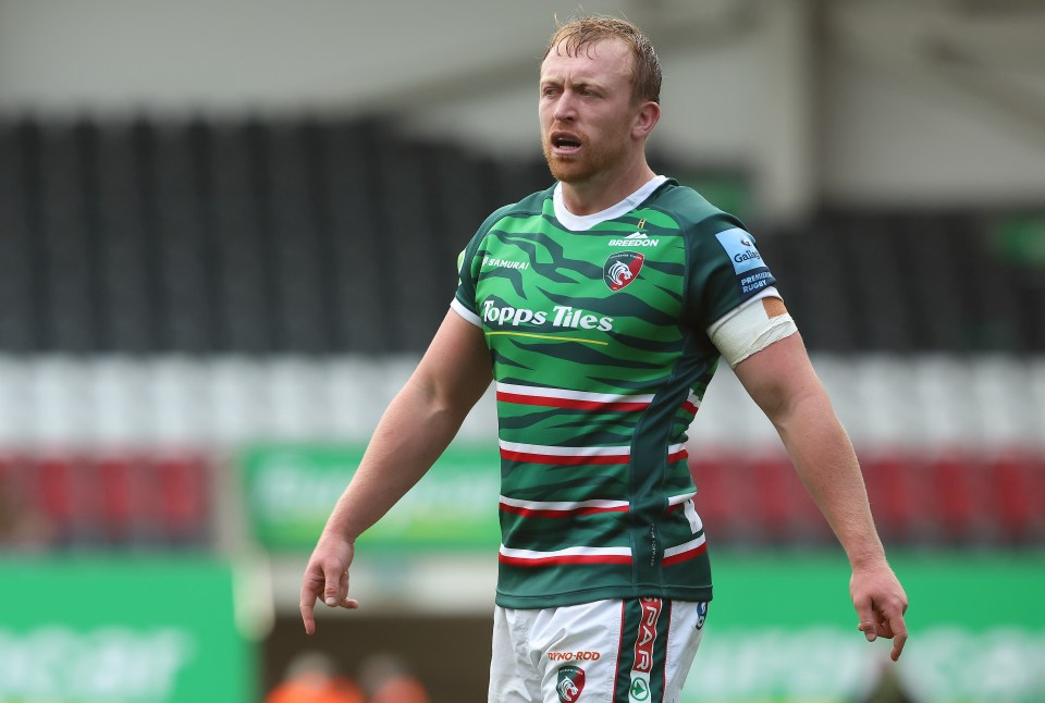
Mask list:
[[[776,314],[771,314],[767,309],[774,307],[770,300],[780,308]],[[708,328],[708,336],[730,368],[796,332],[795,320],[784,309],[779,294],[773,287],[745,301]]]

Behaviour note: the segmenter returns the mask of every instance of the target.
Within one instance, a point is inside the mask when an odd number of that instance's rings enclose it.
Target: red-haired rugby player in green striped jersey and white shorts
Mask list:
[[[392,402],[305,572],[302,616],[355,608],[354,541],[496,382],[502,457],[490,701],[675,701],[711,599],[686,430],[720,357],[779,431],[852,566],[868,640],[903,649],[907,597],[860,468],[750,234],[653,173],[649,40],[612,18],[552,37],[540,77],[557,183],[463,252],[431,346]]]

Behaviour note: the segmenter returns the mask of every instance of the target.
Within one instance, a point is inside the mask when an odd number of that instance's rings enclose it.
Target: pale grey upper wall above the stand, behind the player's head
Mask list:
[[[583,7],[627,14],[657,45],[654,145],[749,170],[764,214],[800,213],[821,195],[1045,201],[1045,3],[970,15],[946,0],[849,0],[817,24],[811,2]],[[577,7],[0,0],[0,114],[381,109],[414,132],[536,153],[538,58],[553,16]],[[961,60],[934,59],[941,46]]]

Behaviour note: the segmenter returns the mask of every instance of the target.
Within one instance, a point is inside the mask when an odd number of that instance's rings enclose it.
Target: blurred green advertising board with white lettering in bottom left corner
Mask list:
[[[247,703],[253,657],[228,565],[0,562],[0,701]]]

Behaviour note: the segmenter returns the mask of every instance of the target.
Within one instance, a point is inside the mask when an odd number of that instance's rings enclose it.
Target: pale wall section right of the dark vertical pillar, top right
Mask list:
[[[939,2],[882,4],[833,17],[826,192],[847,202],[1041,203],[1045,3],[975,18]]]

